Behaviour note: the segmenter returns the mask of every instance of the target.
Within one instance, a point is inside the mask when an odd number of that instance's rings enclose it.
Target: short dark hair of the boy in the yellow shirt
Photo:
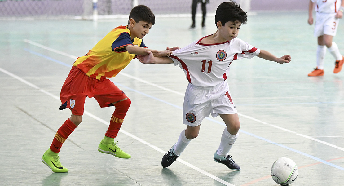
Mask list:
[[[133,19],[135,22],[140,22],[140,21],[145,21],[147,23],[152,23],[154,25],[155,23],[155,16],[152,12],[152,10],[144,6],[142,4],[134,7],[130,14],[129,14],[129,19]]]

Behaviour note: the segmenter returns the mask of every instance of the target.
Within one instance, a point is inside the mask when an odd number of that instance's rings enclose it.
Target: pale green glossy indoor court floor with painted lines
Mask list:
[[[213,160],[225,128],[220,117],[204,119],[198,137],[162,168],[163,154],[186,128],[182,107],[188,82],[178,66],[134,59],[110,78],[132,102],[116,138],[131,158],[98,152],[115,108],[99,108],[89,98],[83,122],[59,154],[68,173],[53,173],[41,161],[71,114],[58,110],[61,87],[75,59],[128,20],[1,20],[0,185],[277,186],[271,165],[289,157],[299,168],[292,186],[342,186],[344,72],[333,74],[334,58],[327,52],[325,75],[307,76],[316,67],[317,47],[307,19],[307,12],[258,12],[240,28],[240,39],[292,57],[282,65],[258,57],[230,65],[227,81],[241,122],[230,155],[241,171]],[[216,31],[212,15],[206,29],[199,17],[197,23],[189,30],[191,18],[157,17],[144,43],[157,50],[183,47]],[[344,55],[343,20],[334,41]]]

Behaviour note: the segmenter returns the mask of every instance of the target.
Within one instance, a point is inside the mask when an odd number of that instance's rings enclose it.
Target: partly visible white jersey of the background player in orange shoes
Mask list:
[[[341,0],[312,0],[316,3],[315,11],[318,13],[337,13],[342,4]]]

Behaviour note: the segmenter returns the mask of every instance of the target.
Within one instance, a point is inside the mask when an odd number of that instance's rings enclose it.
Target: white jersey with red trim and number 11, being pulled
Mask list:
[[[252,58],[260,53],[258,48],[238,38],[224,43],[200,43],[205,37],[169,56],[175,66],[179,65],[184,70],[187,80],[194,86],[216,86],[227,79],[226,70],[233,60]]]

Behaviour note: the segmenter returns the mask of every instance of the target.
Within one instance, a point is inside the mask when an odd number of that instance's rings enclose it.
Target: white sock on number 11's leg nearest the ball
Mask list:
[[[217,155],[227,156],[237,138],[238,134],[232,135],[227,131],[227,128],[225,128],[221,136],[220,146],[217,149]]]

